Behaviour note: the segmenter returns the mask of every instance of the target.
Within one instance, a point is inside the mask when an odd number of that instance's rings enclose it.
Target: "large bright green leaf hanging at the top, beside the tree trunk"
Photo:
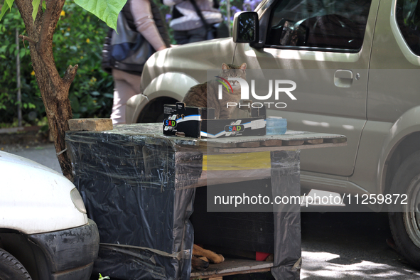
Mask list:
[[[33,0],[36,1],[36,0]],[[75,0],[83,9],[102,19],[107,26],[117,29],[117,18],[127,0]]]

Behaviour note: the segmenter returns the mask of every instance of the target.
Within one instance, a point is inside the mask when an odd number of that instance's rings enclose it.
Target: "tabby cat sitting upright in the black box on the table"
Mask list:
[[[230,85],[227,85],[220,77],[225,80],[229,77],[240,77],[246,80],[246,69],[247,63],[242,63],[239,66],[223,63],[217,79],[191,87],[182,102],[185,103],[185,106],[214,108],[216,119],[230,119],[235,106],[227,107],[227,102],[239,103],[241,87],[237,81],[228,81]],[[222,99],[218,98],[219,85],[222,85]]]

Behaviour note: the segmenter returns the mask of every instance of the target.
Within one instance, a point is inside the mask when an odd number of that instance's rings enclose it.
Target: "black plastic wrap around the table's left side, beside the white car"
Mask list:
[[[75,185],[99,229],[92,275],[189,279],[195,188],[184,187],[200,177],[203,154],[155,135],[156,127],[66,135]]]

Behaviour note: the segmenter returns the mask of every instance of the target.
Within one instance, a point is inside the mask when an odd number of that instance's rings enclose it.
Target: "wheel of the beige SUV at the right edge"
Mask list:
[[[394,194],[403,198],[397,204],[394,204],[397,197]],[[389,226],[397,252],[414,268],[420,269],[420,151],[399,166],[389,195],[392,195]]]

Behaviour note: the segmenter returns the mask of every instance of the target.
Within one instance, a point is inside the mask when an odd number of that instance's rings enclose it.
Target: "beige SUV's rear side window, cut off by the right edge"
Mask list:
[[[420,55],[420,1],[398,0],[395,16],[407,45],[413,53]]]

